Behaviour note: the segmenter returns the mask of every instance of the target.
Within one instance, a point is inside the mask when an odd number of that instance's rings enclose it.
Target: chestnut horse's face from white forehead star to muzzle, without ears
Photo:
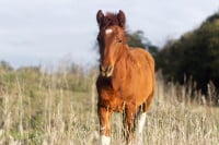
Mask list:
[[[101,55],[100,71],[103,76],[112,76],[114,65],[125,50],[125,31],[117,25],[101,29],[97,40]]]

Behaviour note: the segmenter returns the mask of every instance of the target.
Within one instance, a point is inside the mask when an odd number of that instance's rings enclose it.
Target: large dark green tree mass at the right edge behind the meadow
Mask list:
[[[207,92],[212,81],[219,87],[219,14],[208,17],[197,29],[170,40],[158,55],[158,67],[168,80],[184,83],[193,76],[197,87]]]

